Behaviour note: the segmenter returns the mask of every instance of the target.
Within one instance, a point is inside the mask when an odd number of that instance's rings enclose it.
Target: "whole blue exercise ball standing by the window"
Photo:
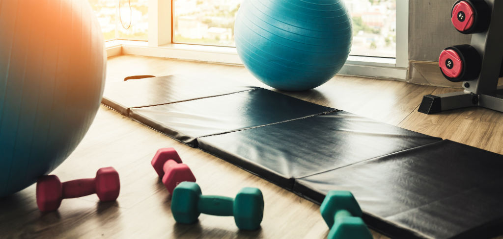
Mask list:
[[[234,36],[245,67],[289,91],[313,89],[336,75],[353,39],[342,0],[244,0]]]

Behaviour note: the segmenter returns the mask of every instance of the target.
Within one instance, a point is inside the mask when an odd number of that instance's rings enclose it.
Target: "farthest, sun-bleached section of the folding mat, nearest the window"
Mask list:
[[[128,115],[129,109],[256,89],[229,80],[162,76],[109,83],[102,103]]]

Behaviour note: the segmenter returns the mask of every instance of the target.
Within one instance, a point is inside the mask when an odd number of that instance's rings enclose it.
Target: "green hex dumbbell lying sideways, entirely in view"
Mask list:
[[[234,216],[239,229],[256,230],[264,215],[264,197],[258,188],[245,187],[236,198],[203,196],[195,182],[182,182],[173,191],[171,211],[178,223],[192,224],[199,214]]]

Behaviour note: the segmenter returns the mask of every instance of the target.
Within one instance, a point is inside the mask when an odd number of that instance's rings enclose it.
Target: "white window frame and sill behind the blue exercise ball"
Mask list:
[[[173,0],[148,1],[148,41],[113,40],[121,54],[242,65],[235,48],[173,43]],[[408,68],[408,0],[396,0],[396,57],[352,56],[339,74],[405,80]],[[114,51],[117,52],[117,51]]]

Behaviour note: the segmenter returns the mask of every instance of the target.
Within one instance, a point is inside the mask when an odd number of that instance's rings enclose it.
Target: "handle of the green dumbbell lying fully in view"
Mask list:
[[[199,212],[217,216],[232,216],[234,198],[225,196],[202,195],[197,207]]]

